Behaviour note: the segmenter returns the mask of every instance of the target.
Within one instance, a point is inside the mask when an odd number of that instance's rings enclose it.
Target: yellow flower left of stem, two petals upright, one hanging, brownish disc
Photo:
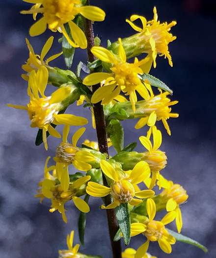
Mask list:
[[[69,134],[70,126],[65,125],[63,129],[62,140],[63,142],[56,148],[56,174],[58,180],[61,182],[61,186],[64,191],[68,190],[69,187],[69,174],[68,166],[73,164],[74,167],[81,171],[88,171],[91,169],[91,165],[88,162],[94,161],[94,155],[87,151],[80,150],[77,147],[77,142],[81,138],[85,131],[85,128],[80,128],[72,138],[72,144],[68,143],[67,137]]]

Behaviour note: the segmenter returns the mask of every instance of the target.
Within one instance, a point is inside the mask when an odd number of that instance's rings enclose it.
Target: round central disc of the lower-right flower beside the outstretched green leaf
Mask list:
[[[150,241],[158,241],[164,235],[168,235],[168,231],[160,221],[150,221],[146,226],[147,227],[143,232],[143,235],[145,235]]]

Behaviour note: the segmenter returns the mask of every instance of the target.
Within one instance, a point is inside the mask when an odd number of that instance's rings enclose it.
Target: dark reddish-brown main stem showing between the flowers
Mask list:
[[[86,1],[86,5],[89,5],[89,0]],[[87,38],[88,46],[87,46],[87,56],[88,61],[93,62],[96,60],[96,57],[91,53],[91,48],[95,45],[94,44],[94,31],[93,26],[90,20],[85,19],[85,35]],[[92,91],[95,92],[100,87],[100,84],[92,86]],[[96,125],[96,132],[99,144],[99,150],[102,153],[108,154],[108,143],[107,143],[107,130],[106,130],[106,123],[104,118],[104,109],[101,105],[101,102],[96,103],[93,105],[94,117],[95,117],[95,125]],[[107,180],[103,174],[103,181],[104,185],[108,186]],[[110,196],[105,197],[105,205],[111,203]],[[114,241],[114,236],[118,230],[117,220],[115,217],[115,213],[113,209],[106,209],[107,211],[107,218],[108,218],[108,228],[109,228],[109,237],[112,246],[112,254],[113,258],[121,258],[121,242]]]

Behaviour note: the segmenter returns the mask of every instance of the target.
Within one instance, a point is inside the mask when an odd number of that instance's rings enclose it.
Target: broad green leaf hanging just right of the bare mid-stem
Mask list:
[[[108,137],[117,152],[124,148],[124,130],[119,120],[112,118],[107,126]]]

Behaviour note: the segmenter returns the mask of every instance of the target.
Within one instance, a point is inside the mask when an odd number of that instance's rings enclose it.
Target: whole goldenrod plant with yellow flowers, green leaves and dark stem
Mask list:
[[[44,178],[35,189],[38,192],[35,197],[41,201],[50,199],[50,212],[58,210],[65,223],[64,204],[74,202],[81,212],[81,244],[84,244],[86,224],[86,216],[82,215],[91,214],[88,200],[102,198],[104,204],[98,208],[107,212],[113,258],[155,258],[154,251],[151,255],[148,253],[149,245],[154,246],[152,242],[158,242],[167,254],[172,252],[177,241],[207,252],[204,246],[180,234],[183,227],[180,207],[189,196],[183,186],[166,179],[165,168],[169,160],[161,148],[162,132],[157,128],[161,123],[158,121],[162,121],[171,135],[167,120],[179,116],[171,111],[171,106],[178,103],[168,96],[172,95],[172,90],[151,75],[152,66],[156,68],[160,56],[173,65],[168,46],[176,39],[171,33],[176,21],[161,23],[156,7],[150,21],[143,14],[133,14],[126,22],[135,34],[126,38],[119,36],[113,43],[108,40],[105,47],[105,42],[102,46],[93,32],[93,21],[104,21],[105,12],[91,6],[89,0],[24,1],[29,3],[29,10],[21,13],[33,16],[30,36],[39,36],[46,29],[61,33],[48,38],[39,54],[35,54],[30,38],[26,39],[29,58],[22,67],[25,71],[22,77],[30,100],[24,106],[8,104],[26,110],[30,126],[38,127],[36,145],[44,143],[48,150],[48,142],[52,141],[49,135],[59,138],[53,157],[55,165],[49,167],[51,157],[45,158],[44,175],[41,172]],[[141,27],[136,25],[140,21]],[[54,37],[62,43],[62,49],[59,54],[45,59],[51,52]],[[67,69],[72,65],[77,48],[87,50],[88,61],[86,64],[80,62],[74,73]],[[50,64],[60,57],[65,59],[65,70]],[[52,94],[45,94],[48,84],[54,86]],[[86,130],[83,126],[88,120],[78,114],[68,114],[67,108],[71,105],[87,108],[86,111],[92,114],[97,143],[92,139],[80,143]],[[134,131],[137,142],[139,140],[144,147],[143,152],[135,151],[136,143],[124,145],[120,121],[126,119],[138,119]],[[59,125],[64,125],[62,134]],[[71,126],[81,127],[72,135]],[[108,152],[110,146],[116,151],[112,157]],[[78,172],[71,172],[72,167]],[[165,215],[160,219],[162,210]],[[169,229],[173,221],[178,233]],[[73,247],[74,230],[68,229],[70,231],[68,250],[59,250],[59,258],[99,258],[97,254],[80,253],[79,244]],[[130,239],[139,234],[143,244],[135,250]],[[121,238],[128,246],[124,251]]]

